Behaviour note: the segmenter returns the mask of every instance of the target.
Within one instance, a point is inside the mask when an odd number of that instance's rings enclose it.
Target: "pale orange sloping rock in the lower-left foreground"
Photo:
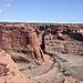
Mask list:
[[[29,83],[10,55],[0,50],[0,83]]]

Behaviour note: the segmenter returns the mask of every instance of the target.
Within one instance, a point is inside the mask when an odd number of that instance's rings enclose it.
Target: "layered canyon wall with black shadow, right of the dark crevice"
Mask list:
[[[40,24],[38,29],[45,53],[83,54],[82,24]]]

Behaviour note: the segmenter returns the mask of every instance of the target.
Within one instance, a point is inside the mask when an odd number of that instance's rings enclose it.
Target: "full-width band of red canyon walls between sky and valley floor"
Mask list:
[[[29,51],[38,60],[43,52],[82,55],[83,24],[0,23],[0,46]]]

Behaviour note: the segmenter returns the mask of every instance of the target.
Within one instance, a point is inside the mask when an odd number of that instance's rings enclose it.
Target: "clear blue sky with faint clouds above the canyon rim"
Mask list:
[[[83,23],[83,0],[0,0],[0,21]]]

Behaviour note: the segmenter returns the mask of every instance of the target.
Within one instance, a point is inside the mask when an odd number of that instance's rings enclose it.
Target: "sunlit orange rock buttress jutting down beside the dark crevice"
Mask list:
[[[40,42],[39,42],[39,39],[37,37],[35,29],[32,29],[31,27],[28,28],[28,40],[29,40],[29,44],[34,50],[34,54],[35,54],[34,58],[37,60],[43,59],[43,52],[41,50]],[[27,46],[28,46],[28,44],[27,44]]]

